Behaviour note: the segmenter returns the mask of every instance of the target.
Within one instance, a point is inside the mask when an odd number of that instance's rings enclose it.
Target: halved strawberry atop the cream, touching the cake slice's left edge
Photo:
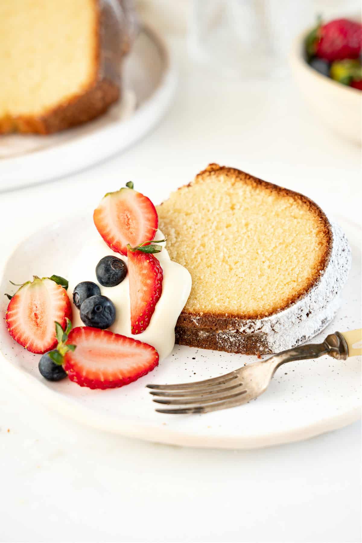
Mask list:
[[[149,198],[133,190],[133,183],[109,192],[93,213],[94,224],[112,251],[127,254],[132,247],[153,239],[158,226],[155,206]]]

